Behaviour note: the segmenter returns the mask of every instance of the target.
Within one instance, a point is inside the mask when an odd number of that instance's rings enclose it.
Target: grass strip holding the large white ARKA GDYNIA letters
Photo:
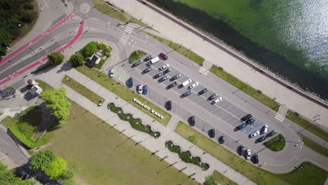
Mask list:
[[[167,125],[168,122],[170,121],[170,118],[172,116],[170,114],[168,114],[166,111],[164,111],[163,109],[160,109],[155,104],[144,99],[144,97],[138,95],[137,93],[133,93],[125,85],[118,83],[117,81],[115,81],[112,78],[109,78],[106,74],[102,74],[100,71],[97,71],[96,69],[90,69],[86,66],[76,67],[75,69],[80,71],[82,74],[88,76],[89,78],[93,79],[93,81],[99,83],[104,88],[107,88],[112,93],[118,95],[118,97],[121,97],[123,100],[129,102],[137,109],[148,114],[149,116],[151,116],[151,118],[155,119],[159,123],[163,123],[163,125]],[[159,114],[163,115],[164,118],[163,119],[158,118],[156,115],[151,114],[151,111],[146,110],[146,109],[142,108],[136,102],[133,102],[133,97],[137,98],[139,101],[148,105],[151,109],[156,110]]]

